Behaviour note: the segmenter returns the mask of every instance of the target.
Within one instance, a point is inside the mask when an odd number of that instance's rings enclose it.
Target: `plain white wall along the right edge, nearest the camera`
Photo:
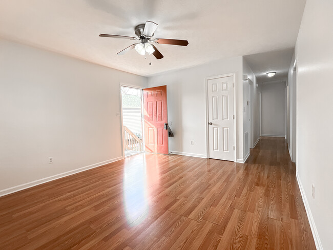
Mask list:
[[[333,245],[332,10],[331,0],[307,0],[296,43],[297,175],[324,249]]]

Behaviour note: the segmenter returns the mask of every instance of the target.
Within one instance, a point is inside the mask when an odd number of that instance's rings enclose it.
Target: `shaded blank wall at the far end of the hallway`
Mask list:
[[[261,135],[285,136],[285,82],[261,84]]]

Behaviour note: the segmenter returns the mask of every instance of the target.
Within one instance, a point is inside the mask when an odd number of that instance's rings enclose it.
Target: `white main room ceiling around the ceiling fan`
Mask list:
[[[0,36],[107,67],[149,76],[220,58],[292,48],[305,0],[0,0]],[[137,24],[159,24],[155,38],[187,39],[187,47],[156,45],[152,65],[135,50]]]

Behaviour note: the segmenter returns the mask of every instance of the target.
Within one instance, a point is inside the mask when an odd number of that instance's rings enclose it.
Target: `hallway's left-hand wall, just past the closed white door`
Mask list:
[[[260,137],[260,124],[259,124],[259,87],[257,87],[257,79],[253,73],[251,67],[247,64],[245,58],[243,57],[243,75],[247,75],[253,84],[249,84],[249,81],[243,81],[243,133],[249,131],[249,124],[251,122],[251,131],[249,138],[249,147],[253,148],[254,143]],[[250,101],[250,93],[252,93],[252,103],[247,106],[247,101]],[[245,108],[245,112],[244,112]],[[249,121],[249,109],[252,108],[252,119]],[[249,149],[245,149],[246,145],[244,144],[244,152]]]

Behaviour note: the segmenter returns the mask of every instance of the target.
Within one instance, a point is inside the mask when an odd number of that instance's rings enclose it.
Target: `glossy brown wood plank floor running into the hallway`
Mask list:
[[[0,198],[0,249],[316,249],[284,138],[139,154]]]

